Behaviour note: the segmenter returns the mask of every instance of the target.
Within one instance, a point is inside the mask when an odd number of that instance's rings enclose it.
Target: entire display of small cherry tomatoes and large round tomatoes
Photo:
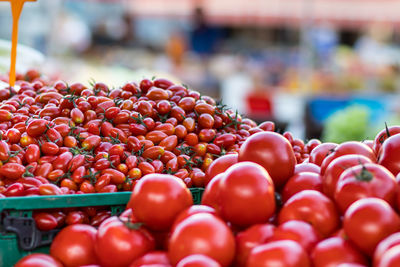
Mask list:
[[[15,266],[399,265],[398,126],[304,142],[165,79],[110,90],[33,74],[0,90],[0,196],[131,193],[120,215],[34,213],[61,231]]]

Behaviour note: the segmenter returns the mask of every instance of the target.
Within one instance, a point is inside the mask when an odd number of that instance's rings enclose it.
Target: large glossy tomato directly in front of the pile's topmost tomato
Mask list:
[[[230,167],[219,185],[221,216],[239,227],[265,223],[275,212],[275,189],[268,172],[253,162]]]

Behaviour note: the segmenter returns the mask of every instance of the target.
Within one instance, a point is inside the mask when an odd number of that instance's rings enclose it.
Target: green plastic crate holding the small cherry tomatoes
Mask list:
[[[200,204],[203,188],[190,188],[194,204]],[[38,209],[109,206],[113,215],[121,213],[131,192],[82,195],[11,197],[0,199],[0,266],[13,266],[31,253],[48,253],[58,232],[37,230],[32,212]],[[6,227],[17,225],[24,229],[16,234]],[[19,235],[19,236],[18,236]]]

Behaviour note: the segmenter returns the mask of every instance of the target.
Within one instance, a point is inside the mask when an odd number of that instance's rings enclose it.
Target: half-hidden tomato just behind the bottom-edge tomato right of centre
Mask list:
[[[320,234],[304,221],[291,220],[276,228],[269,241],[293,240],[299,243],[308,253],[321,240]]]

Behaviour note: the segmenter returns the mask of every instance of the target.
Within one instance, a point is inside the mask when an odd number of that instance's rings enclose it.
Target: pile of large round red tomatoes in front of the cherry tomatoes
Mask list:
[[[67,226],[16,266],[400,266],[398,133],[299,150],[254,133],[209,166],[202,205],[179,177],[148,174],[119,217]]]

